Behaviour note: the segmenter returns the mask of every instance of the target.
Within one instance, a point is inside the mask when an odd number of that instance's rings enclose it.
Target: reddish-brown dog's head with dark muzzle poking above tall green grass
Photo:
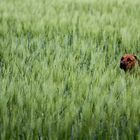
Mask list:
[[[120,68],[125,72],[133,69],[138,65],[140,65],[140,60],[138,60],[137,56],[133,54],[125,54],[120,60]]]

